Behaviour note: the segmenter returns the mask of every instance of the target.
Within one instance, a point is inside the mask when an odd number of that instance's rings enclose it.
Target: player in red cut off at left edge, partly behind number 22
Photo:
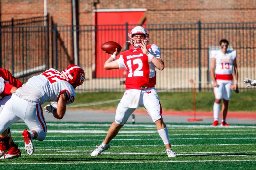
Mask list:
[[[21,83],[17,78],[13,77],[8,70],[0,68],[0,114],[6,101],[11,98],[12,93],[22,85],[23,83]],[[18,144],[15,144],[12,139],[10,128],[7,128],[7,134],[11,148],[5,153],[6,156],[4,156],[4,151],[2,151],[1,148],[2,136],[0,135],[0,159],[5,159],[7,157],[16,158],[21,155]]]

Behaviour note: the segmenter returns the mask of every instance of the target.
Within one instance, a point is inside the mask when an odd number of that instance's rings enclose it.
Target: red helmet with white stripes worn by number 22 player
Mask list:
[[[85,73],[82,67],[72,64],[61,72],[64,78],[74,87],[74,89],[82,85],[85,78]]]

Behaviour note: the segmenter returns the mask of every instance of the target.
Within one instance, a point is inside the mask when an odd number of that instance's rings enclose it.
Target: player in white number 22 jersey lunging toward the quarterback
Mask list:
[[[45,108],[57,119],[62,119],[66,104],[75,100],[74,89],[84,82],[84,70],[78,65],[69,65],[59,72],[49,69],[40,75],[33,76],[13,92],[0,114],[0,133],[2,136],[2,151],[10,149],[7,128],[21,119],[30,131],[25,129],[22,133],[25,150],[29,155],[34,153],[32,139],[44,140],[47,132],[41,104],[46,101],[57,102],[57,107],[47,105]]]

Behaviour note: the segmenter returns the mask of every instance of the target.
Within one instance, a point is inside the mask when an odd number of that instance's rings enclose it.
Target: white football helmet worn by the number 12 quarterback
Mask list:
[[[136,34],[143,34],[145,36],[145,41],[146,41],[146,45],[148,44],[148,32],[145,28],[143,28],[142,26],[135,26],[132,31],[128,34],[129,39],[130,39],[130,44],[136,48],[140,48],[140,42],[136,41],[133,37]]]

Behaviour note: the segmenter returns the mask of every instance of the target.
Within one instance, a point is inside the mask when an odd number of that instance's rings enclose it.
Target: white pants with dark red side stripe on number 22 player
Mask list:
[[[46,135],[47,126],[41,104],[30,103],[12,95],[0,114],[0,133],[19,119],[23,120],[30,130],[43,130]]]

